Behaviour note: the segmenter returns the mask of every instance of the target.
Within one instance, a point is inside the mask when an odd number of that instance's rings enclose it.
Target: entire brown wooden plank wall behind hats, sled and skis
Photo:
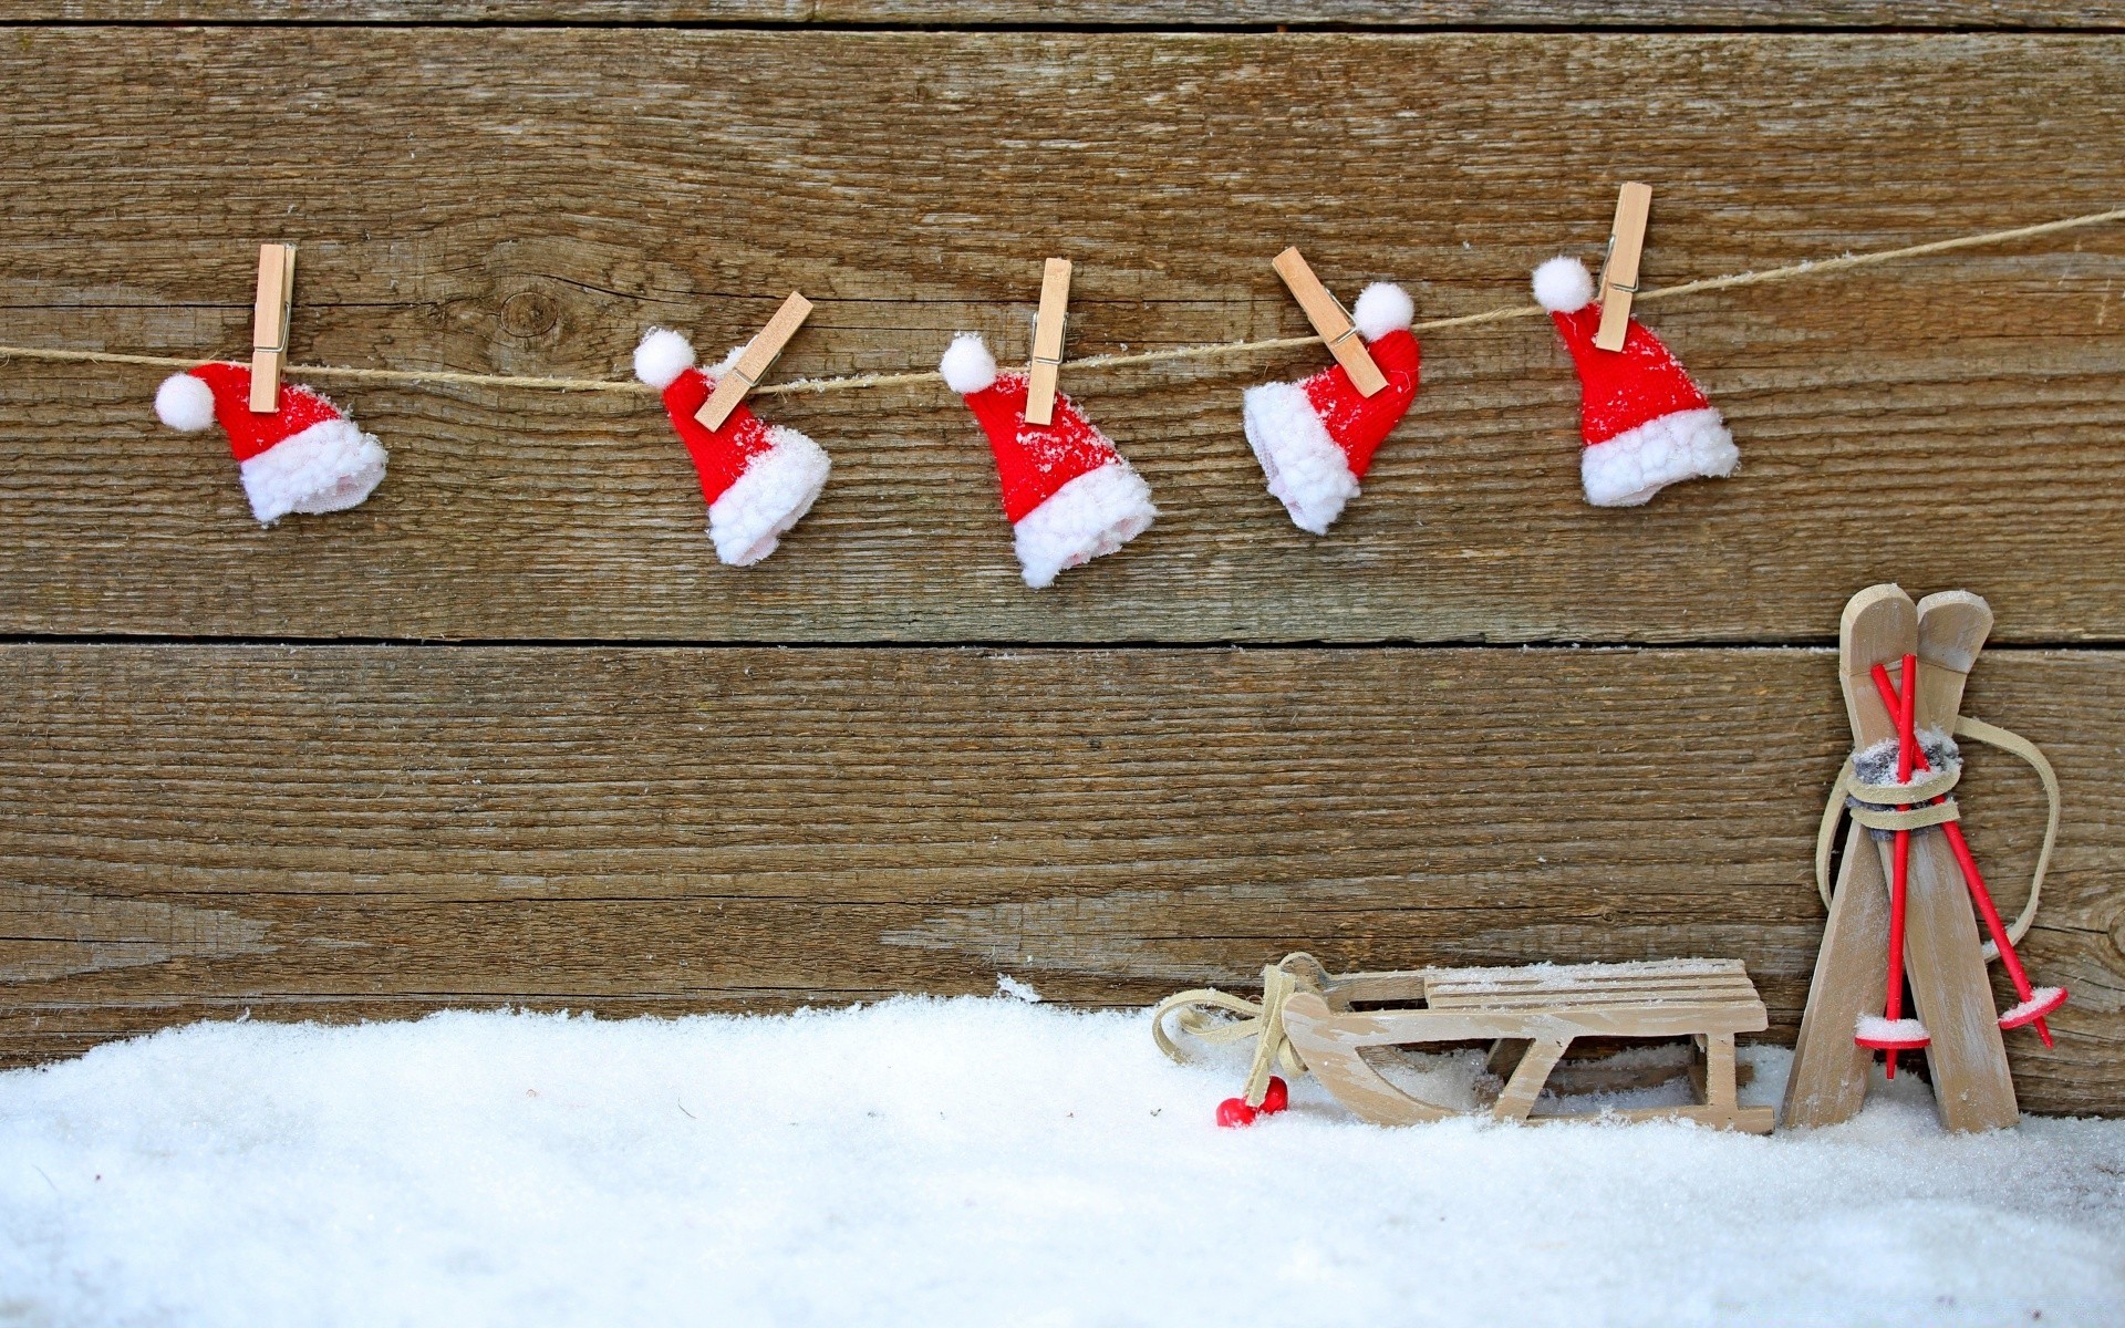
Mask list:
[[[801,8],[801,13],[797,13]],[[497,21],[506,17],[508,21]],[[153,21],[144,21],[153,19]],[[323,21],[329,19],[329,21]],[[1328,23],[1334,30],[1279,32]],[[1621,23],[1628,32],[1604,32]],[[1893,23],[1893,28],[1889,28]],[[1269,270],[1420,317],[2125,202],[2104,6],[478,2],[15,6],[0,342],[230,355],[304,246],[300,361],[623,376],[642,329],[778,374],[1300,334]],[[1878,28],[1878,30],[1876,30]],[[259,531],[157,372],[0,363],[0,1065],[191,1018],[610,1014],[992,990],[1137,1003],[1332,965],[1732,954],[1791,1037],[1836,771],[1836,614],[2000,616],[1970,710],[2068,829],[2025,1103],[2125,1111],[2125,227],[1651,306],[1736,480],[1596,512],[1543,323],[1426,338],[1328,540],[1262,493],[1250,382],[1084,372],[1158,495],[1026,591],[941,389],[782,397],[835,457],[714,563],[646,397],[332,385],[368,506]],[[2040,801],[1978,754],[2002,882]],[[2019,888],[2004,890],[2019,903]]]

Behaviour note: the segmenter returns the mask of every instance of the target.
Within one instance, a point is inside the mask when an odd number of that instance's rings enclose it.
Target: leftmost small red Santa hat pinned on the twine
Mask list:
[[[385,448],[308,387],[280,385],[272,414],[251,414],[251,365],[202,363],[155,389],[162,423],[196,433],[221,421],[251,514],[272,525],[289,512],[340,512],[385,478]]]

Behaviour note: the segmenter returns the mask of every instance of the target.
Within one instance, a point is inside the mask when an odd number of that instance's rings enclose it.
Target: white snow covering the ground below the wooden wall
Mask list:
[[[196,1024],[0,1075],[0,1324],[2116,1324],[2125,1122],[1211,1113],[1137,1014]],[[1785,1054],[1749,1050],[1745,1101]],[[1479,1056],[1424,1071],[1462,1086]],[[1451,1084],[1445,1084],[1451,1088]],[[2040,1317],[2038,1317],[2040,1313]]]

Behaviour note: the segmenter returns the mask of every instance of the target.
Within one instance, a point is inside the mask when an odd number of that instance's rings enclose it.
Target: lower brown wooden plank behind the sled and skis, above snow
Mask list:
[[[1817,650],[0,648],[0,1060],[189,1018],[1734,956],[1791,1039]],[[2057,763],[2038,1111],[2125,1111],[2125,661],[1987,652]],[[2019,905],[2034,778],[1974,750]],[[2010,1003],[2012,997],[2002,990]]]

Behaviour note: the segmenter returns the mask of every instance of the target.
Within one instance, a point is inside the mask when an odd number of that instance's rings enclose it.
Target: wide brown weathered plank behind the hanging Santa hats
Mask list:
[[[1077,355],[1286,336],[1286,244],[1492,308],[1598,257],[1621,178],[1655,287],[2116,206],[2121,79],[2119,36],[17,28],[0,342],[238,351],[268,238],[304,242],[298,361],[618,376],[650,323],[714,353],[801,287],[782,374],[931,368],[1022,344],[1048,253]],[[327,385],[391,474],[259,531],[155,372],[11,363],[0,633],[1821,642],[1900,578],[2004,642],[2125,640],[2121,302],[2125,227],[1647,306],[1742,476],[1630,512],[1579,495],[1551,329],[1441,334],[1328,540],[1239,425],[1320,355],[1065,374],[1164,516],[1041,593],[941,389],[763,402],[835,476],[731,572],[648,397]]]

